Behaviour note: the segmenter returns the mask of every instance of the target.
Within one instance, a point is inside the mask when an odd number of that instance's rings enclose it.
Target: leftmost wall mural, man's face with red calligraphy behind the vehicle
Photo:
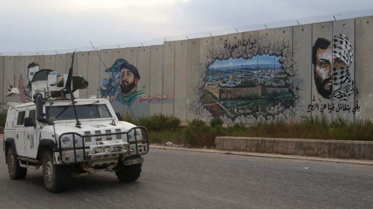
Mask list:
[[[31,62],[27,66],[27,84],[23,83],[23,73],[19,75],[18,78],[18,89],[19,89],[19,97],[21,98],[21,102],[26,102],[28,100],[32,99],[32,89],[31,89],[31,81],[32,78],[34,77],[34,74],[38,72],[39,69],[39,64],[35,62]]]

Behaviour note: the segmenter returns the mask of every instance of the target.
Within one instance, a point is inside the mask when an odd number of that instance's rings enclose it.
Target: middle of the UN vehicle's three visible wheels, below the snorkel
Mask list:
[[[43,179],[49,192],[63,192],[70,186],[70,168],[68,165],[53,163],[53,154],[46,151],[43,156]]]

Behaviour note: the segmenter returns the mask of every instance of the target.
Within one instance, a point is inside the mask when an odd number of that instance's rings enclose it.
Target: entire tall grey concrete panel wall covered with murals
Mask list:
[[[73,67],[89,82],[80,98],[100,94],[117,112],[131,109],[137,116],[247,124],[310,116],[373,119],[372,33],[373,17],[359,17],[78,52]],[[15,100],[25,102],[34,73],[67,73],[71,59],[72,53],[0,57],[0,83],[18,87]],[[12,98],[4,97],[5,88],[0,94],[6,109]]]

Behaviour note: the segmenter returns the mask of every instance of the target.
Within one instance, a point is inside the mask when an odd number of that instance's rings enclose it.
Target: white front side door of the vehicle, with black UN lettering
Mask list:
[[[31,117],[32,122],[36,123],[36,110],[35,106],[28,107],[26,117]],[[38,152],[39,139],[37,138],[37,129],[34,126],[24,127],[25,130],[25,147],[26,155],[29,158],[36,159]]]

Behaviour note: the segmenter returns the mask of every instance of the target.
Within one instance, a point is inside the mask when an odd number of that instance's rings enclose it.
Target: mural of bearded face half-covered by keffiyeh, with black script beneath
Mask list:
[[[354,103],[354,81],[349,68],[352,64],[353,49],[350,39],[344,35],[335,35],[333,42],[325,38],[317,38],[312,47],[312,65],[314,71],[314,85],[317,94],[332,102],[324,104],[320,97],[313,96],[313,104],[308,105],[307,112],[318,110],[320,113],[348,112],[355,115],[360,111],[358,101],[351,107],[346,102],[350,99]],[[336,103],[336,104],[335,104]]]

